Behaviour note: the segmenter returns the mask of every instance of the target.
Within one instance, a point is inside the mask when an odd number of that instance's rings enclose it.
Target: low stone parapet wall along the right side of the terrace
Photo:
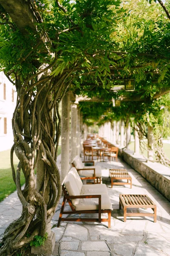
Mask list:
[[[146,162],[141,155],[135,155],[130,150],[120,149],[119,155],[170,201],[170,168],[160,163]]]

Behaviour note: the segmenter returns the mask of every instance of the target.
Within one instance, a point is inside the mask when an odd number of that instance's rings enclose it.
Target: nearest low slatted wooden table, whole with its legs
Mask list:
[[[127,216],[153,216],[156,222],[156,204],[147,195],[119,195],[119,209],[121,206],[124,210],[124,222]],[[127,213],[128,208],[151,208],[153,213]]]

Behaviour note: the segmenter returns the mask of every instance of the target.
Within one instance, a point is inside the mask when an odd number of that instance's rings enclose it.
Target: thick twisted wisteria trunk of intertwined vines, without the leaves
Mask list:
[[[16,75],[17,104],[12,119],[11,167],[23,212],[5,230],[0,255],[11,254],[37,234],[44,236],[61,196],[56,163],[60,135],[59,102],[69,84],[64,83],[68,75],[57,79],[48,72],[49,67],[44,67],[24,82]],[[17,170],[13,164],[14,152],[19,159]],[[26,181],[24,189],[20,184],[21,171]]]

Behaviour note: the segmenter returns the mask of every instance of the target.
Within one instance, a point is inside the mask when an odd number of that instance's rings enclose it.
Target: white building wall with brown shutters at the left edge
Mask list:
[[[16,105],[17,93],[3,72],[0,72],[0,151],[13,145],[12,116]]]

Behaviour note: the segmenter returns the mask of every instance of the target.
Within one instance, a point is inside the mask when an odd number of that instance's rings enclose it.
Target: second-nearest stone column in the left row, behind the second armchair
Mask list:
[[[77,104],[71,104],[71,162],[77,154]]]

